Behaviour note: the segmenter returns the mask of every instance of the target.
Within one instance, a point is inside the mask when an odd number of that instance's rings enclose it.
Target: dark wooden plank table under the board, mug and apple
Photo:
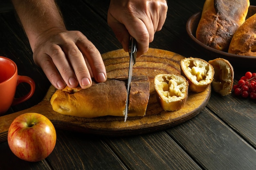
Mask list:
[[[121,48],[106,22],[108,1],[58,2],[68,29],[83,32],[101,53]],[[209,60],[186,33],[186,21],[201,11],[203,4],[204,0],[169,0],[166,23],[150,47]],[[1,9],[4,12],[0,13],[0,55],[14,60],[19,74],[36,82],[34,96],[10,108],[7,112],[10,114],[38,104],[50,83],[32,60],[28,40],[15,12],[9,6]],[[235,68],[235,82],[246,71],[256,72],[256,68]],[[16,95],[23,95],[28,89],[26,84],[21,84]],[[197,116],[158,132],[125,137],[94,136],[62,129],[56,132],[54,151],[36,163],[18,159],[7,141],[1,142],[0,170],[256,169],[256,100],[234,94],[222,97],[212,91],[207,106]]]

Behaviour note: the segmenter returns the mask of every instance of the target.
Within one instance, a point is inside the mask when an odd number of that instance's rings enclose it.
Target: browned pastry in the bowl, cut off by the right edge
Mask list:
[[[248,18],[234,34],[229,53],[256,56],[256,14]]]

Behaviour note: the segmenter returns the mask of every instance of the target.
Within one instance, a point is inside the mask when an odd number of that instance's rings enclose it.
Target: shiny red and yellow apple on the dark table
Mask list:
[[[41,161],[52,153],[56,144],[56,131],[52,122],[44,115],[25,113],[11,123],[8,144],[20,159]]]

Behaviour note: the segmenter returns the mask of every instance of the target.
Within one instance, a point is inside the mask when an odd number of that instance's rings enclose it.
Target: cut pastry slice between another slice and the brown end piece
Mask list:
[[[202,92],[213,81],[213,66],[200,58],[184,58],[180,62],[180,68],[182,75],[189,82],[189,91]]]

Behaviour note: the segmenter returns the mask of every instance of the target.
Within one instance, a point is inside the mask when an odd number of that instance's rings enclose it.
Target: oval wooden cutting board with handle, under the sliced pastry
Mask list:
[[[128,75],[129,56],[123,49],[110,51],[102,55],[109,78],[119,78]],[[149,49],[137,57],[133,67],[133,75],[147,75],[150,79],[150,97],[146,116],[128,117],[98,117],[81,118],[61,115],[52,110],[49,102],[56,89],[51,86],[42,102],[31,108],[0,117],[0,141],[7,139],[7,132],[13,119],[22,113],[40,113],[48,117],[55,128],[75,130],[96,135],[121,136],[137,135],[156,130],[163,130],[180,124],[197,115],[207,104],[211,95],[211,87],[201,93],[189,93],[186,105],[177,111],[164,111],[157,103],[153,79],[159,73],[180,74],[180,60],[184,57],[177,53],[160,49]]]

